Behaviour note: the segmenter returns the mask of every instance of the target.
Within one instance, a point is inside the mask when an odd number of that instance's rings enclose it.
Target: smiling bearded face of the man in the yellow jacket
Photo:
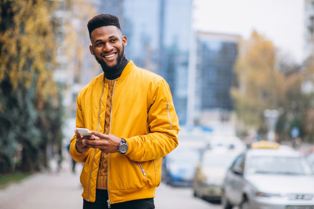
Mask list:
[[[92,31],[90,53],[95,56],[102,68],[116,67],[124,56],[127,37],[114,25],[102,26]]]

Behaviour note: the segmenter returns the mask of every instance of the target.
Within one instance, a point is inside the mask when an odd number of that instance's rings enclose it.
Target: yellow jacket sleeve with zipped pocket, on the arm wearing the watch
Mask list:
[[[134,161],[148,161],[164,157],[178,146],[179,120],[173,106],[168,84],[162,79],[149,100],[147,135],[125,138],[129,145],[127,157]]]

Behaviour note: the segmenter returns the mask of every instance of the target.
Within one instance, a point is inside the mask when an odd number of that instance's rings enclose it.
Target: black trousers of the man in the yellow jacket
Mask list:
[[[83,209],[106,209],[108,208],[108,191],[96,189],[96,201],[89,202],[83,199]],[[154,198],[131,200],[111,204],[112,209],[154,209]]]

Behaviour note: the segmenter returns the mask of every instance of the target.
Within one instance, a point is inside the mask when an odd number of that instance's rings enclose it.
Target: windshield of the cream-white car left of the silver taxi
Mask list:
[[[204,156],[202,167],[229,167],[235,156]]]

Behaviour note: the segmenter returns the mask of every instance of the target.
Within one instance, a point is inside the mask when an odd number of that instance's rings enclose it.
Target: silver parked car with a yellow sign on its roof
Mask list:
[[[228,169],[221,198],[223,207],[314,208],[314,174],[302,154],[282,145],[262,143],[263,148],[247,150]]]

